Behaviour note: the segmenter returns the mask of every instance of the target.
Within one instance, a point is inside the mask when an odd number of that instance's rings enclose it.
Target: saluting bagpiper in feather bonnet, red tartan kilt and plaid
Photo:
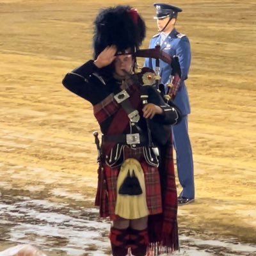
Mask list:
[[[95,19],[94,56],[69,72],[63,85],[88,100],[100,125],[100,217],[112,221],[114,256],[157,255],[179,248],[177,191],[173,159],[158,145],[170,140],[179,109],[168,106],[154,88],[154,71],[136,72],[136,51],[145,23],[131,6],[102,10]],[[161,154],[161,152],[160,152]],[[166,158],[165,165],[159,161]]]

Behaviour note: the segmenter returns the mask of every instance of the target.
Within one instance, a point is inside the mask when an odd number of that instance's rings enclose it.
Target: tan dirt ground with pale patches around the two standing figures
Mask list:
[[[31,243],[48,255],[109,255],[109,223],[93,207],[99,127],[61,80],[92,58],[104,6],[138,8],[147,47],[153,1],[139,2],[0,0],[0,251]],[[179,255],[256,255],[256,3],[172,4],[193,53],[196,200],[179,208]]]

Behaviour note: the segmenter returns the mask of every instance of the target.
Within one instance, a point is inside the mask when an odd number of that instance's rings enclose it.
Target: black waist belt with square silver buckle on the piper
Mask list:
[[[120,144],[147,144],[147,138],[140,133],[133,134],[108,134],[102,136],[102,141],[104,142],[114,142]]]

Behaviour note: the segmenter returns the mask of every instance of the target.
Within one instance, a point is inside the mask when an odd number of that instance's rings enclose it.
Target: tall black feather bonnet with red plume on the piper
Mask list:
[[[101,10],[94,26],[94,58],[108,45],[116,45],[120,52],[128,48],[134,52],[140,47],[146,33],[144,20],[136,9],[127,5]]]

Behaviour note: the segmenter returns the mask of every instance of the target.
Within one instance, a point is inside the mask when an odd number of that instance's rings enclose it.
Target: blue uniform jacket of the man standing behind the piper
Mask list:
[[[153,36],[150,40],[149,48],[155,48],[157,44],[161,45],[160,40],[160,33]],[[180,34],[176,29],[173,29],[172,32],[166,36],[166,39],[161,45],[161,50],[168,53],[170,56],[179,56],[182,81],[173,103],[179,107],[182,115],[188,115],[190,113],[190,105],[188,91],[184,83],[184,80],[188,78],[189,66],[191,63],[191,51],[188,37]],[[166,84],[169,82],[172,67],[162,60],[159,62],[161,83]],[[150,67],[153,70],[156,70],[156,60],[147,58],[145,60],[145,67]]]

